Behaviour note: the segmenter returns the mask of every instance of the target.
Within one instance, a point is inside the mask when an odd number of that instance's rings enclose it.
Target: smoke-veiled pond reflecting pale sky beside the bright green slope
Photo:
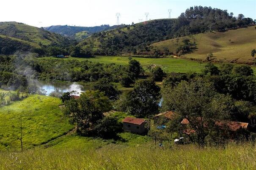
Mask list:
[[[80,95],[81,92],[88,90],[88,87],[82,86],[77,83],[54,83],[54,82],[45,82],[39,81],[37,86],[40,89],[44,89],[44,93],[49,95],[51,92],[58,90],[59,92],[71,92],[76,91],[77,95]]]

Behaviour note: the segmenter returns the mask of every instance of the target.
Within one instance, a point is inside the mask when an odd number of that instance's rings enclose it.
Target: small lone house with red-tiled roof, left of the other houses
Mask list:
[[[145,119],[126,117],[123,124],[124,130],[128,132],[145,134],[148,131]]]

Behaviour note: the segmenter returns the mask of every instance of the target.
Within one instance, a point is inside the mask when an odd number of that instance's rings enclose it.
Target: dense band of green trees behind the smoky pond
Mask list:
[[[120,93],[113,83],[130,86],[144,70],[135,59],[129,65],[101,64],[95,62],[61,59],[38,59],[30,54],[0,55],[0,88],[26,89],[36,92],[29,86],[30,80],[91,82],[92,89],[105,92],[111,100]]]

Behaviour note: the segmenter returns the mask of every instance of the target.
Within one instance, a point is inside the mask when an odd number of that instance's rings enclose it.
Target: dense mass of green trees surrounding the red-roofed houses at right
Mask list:
[[[201,74],[172,74],[164,82],[162,97],[162,110],[177,113],[169,130],[200,145],[249,138],[246,130],[231,133],[229,121],[248,122],[252,128],[256,125],[256,77],[247,65],[218,68],[208,63]],[[189,125],[180,123],[184,118]]]

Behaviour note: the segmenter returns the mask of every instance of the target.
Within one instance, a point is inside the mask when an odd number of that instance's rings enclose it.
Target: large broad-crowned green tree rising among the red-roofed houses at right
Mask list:
[[[230,117],[234,105],[230,96],[215,92],[210,82],[198,78],[191,82],[182,81],[174,89],[163,89],[163,107],[173,108],[176,119],[171,128],[177,127],[179,132],[185,134],[187,129],[193,130],[195,141],[204,145],[207,135],[215,131],[215,122],[226,120]],[[180,122],[186,118],[189,127],[181,126]],[[178,128],[179,127],[179,128]]]

